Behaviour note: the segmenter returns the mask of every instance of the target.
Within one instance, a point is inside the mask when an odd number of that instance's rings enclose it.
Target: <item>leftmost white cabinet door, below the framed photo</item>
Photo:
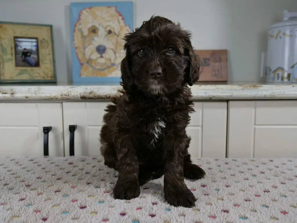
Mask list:
[[[49,155],[64,156],[61,103],[0,103],[0,117],[0,156],[42,156],[46,126]]]

